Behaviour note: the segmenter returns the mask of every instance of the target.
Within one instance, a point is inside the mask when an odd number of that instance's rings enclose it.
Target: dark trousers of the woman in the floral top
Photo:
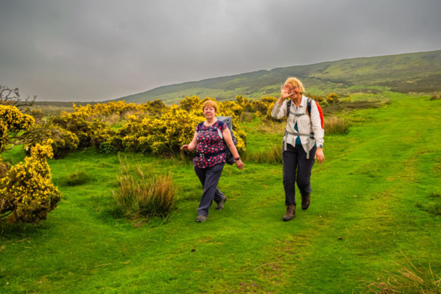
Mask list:
[[[196,176],[198,176],[204,187],[201,204],[198,207],[198,215],[208,216],[208,209],[212,206],[213,200],[218,203],[225,197],[218,189],[218,182],[224,165],[225,163],[219,163],[205,169],[194,167]]]

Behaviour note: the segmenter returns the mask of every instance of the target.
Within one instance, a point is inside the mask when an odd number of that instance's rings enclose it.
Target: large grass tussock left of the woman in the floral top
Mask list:
[[[112,193],[127,216],[139,218],[170,213],[177,191],[172,174],[156,175],[151,167],[121,158],[120,164],[120,187]]]

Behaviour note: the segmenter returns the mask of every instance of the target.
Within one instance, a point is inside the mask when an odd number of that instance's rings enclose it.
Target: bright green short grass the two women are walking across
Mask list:
[[[441,199],[441,101],[385,95],[390,105],[345,115],[349,134],[325,137],[311,207],[290,222],[280,163],[225,166],[225,209],[198,224],[202,188],[189,162],[127,154],[178,186],[176,211],[139,223],[110,210],[118,156],[50,160],[56,185],[81,169],[94,180],[60,186],[63,201],[43,224],[3,227],[0,293],[358,293],[407,265],[404,255],[441,273],[441,216],[429,211]],[[260,123],[243,125],[249,151],[281,144]]]

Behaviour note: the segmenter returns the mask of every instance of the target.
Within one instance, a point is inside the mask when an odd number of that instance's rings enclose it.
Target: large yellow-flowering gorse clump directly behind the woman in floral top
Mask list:
[[[191,142],[196,125],[205,120],[203,102],[216,101],[214,98],[199,99],[197,96],[185,97],[180,106],[172,105],[161,110],[160,118],[152,116],[127,116],[129,122],[116,131],[115,136],[107,138],[106,144],[115,149],[152,154],[174,154],[182,145]],[[245,151],[246,134],[240,131],[238,116],[243,107],[234,101],[218,103],[218,116],[232,116],[234,134],[238,140],[237,148]],[[106,145],[106,146],[107,146]]]

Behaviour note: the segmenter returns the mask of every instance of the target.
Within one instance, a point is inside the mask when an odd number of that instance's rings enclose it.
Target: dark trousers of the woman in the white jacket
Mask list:
[[[311,193],[311,170],[314,165],[317,147],[309,151],[309,159],[301,145],[287,144],[287,150],[283,151],[283,188],[285,189],[285,205],[296,205],[296,187],[300,194]]]

